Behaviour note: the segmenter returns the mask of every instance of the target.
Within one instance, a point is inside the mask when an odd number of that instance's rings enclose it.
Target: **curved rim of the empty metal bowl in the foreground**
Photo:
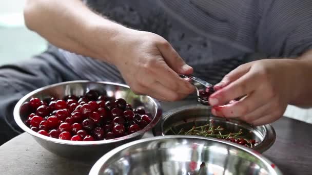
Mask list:
[[[144,142],[150,142],[150,141],[155,141],[155,140],[162,140],[162,139],[200,139],[200,140],[206,140],[206,141],[212,141],[212,142],[219,142],[221,144],[229,145],[232,147],[236,147],[244,152],[247,152],[248,154],[251,154],[252,156],[255,156],[257,159],[259,159],[261,162],[265,164],[265,166],[269,169],[269,172],[275,172],[276,175],[283,174],[281,170],[270,160],[265,158],[263,155],[261,155],[258,151],[246,148],[242,145],[234,144],[231,142],[227,142],[224,140],[220,139],[215,139],[215,138],[204,138],[200,136],[156,136],[156,137],[151,137],[151,138],[145,138],[145,139],[140,139],[136,141],[132,141],[129,143],[126,143],[124,145],[121,145],[119,147],[116,147],[110,151],[108,151],[104,156],[102,156],[99,160],[95,162],[95,164],[92,166],[91,170],[89,171],[89,175],[94,175],[94,174],[99,174],[100,170],[102,169],[102,166],[105,162],[107,162],[110,158],[112,158],[114,155],[116,155],[118,152],[131,147],[136,144],[144,143]],[[272,167],[272,165],[275,165]]]

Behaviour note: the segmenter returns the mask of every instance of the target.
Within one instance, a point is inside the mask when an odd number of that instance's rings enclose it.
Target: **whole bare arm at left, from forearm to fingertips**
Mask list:
[[[174,101],[194,91],[178,75],[192,68],[167,40],[116,24],[79,0],[28,0],[25,21],[57,47],[114,64],[136,94]]]

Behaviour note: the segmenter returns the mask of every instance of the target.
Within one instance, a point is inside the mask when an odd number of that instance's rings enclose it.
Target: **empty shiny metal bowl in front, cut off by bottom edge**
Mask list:
[[[161,136],[133,141],[98,160],[89,175],[282,174],[244,146],[198,136]]]

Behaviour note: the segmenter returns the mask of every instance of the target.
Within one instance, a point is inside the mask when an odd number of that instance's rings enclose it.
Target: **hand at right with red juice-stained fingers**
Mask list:
[[[287,104],[297,97],[298,62],[295,59],[264,59],[239,66],[214,86],[220,90],[209,97],[212,114],[239,117],[253,125],[276,121],[282,117]],[[245,97],[228,103],[242,96]]]

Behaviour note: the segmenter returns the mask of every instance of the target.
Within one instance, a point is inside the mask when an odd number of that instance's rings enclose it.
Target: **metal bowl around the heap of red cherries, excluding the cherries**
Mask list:
[[[24,124],[27,115],[23,114],[23,104],[32,97],[47,98],[57,97],[63,98],[66,95],[80,96],[88,90],[98,90],[101,93],[106,92],[107,96],[115,98],[124,98],[133,107],[144,106],[145,110],[152,116],[152,121],[139,132],[128,136],[101,141],[69,141],[60,140],[43,136],[31,130]],[[90,82],[90,81],[68,81],[45,86],[37,89],[21,100],[19,100],[14,108],[14,119],[19,127],[29,133],[34,139],[47,150],[56,155],[68,157],[70,159],[99,159],[109,150],[123,145],[125,143],[141,139],[145,132],[149,131],[155,124],[159,122],[162,111],[157,100],[148,96],[137,96],[132,93],[129,86],[111,82]]]

